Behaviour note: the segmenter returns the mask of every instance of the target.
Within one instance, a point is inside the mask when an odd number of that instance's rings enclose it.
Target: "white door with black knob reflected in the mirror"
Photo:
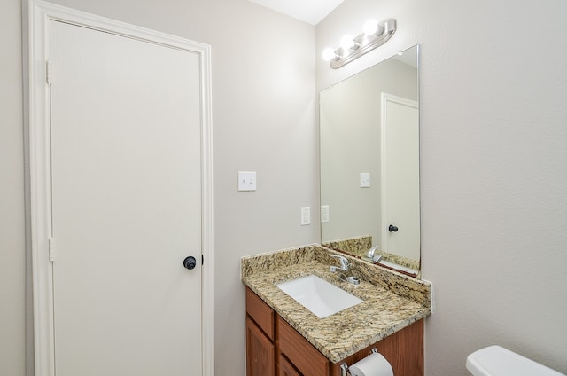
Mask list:
[[[382,94],[382,242],[386,252],[419,260],[419,110]]]

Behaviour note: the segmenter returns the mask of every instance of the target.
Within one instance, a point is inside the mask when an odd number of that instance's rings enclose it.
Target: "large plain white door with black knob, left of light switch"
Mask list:
[[[50,60],[55,374],[200,375],[198,54],[51,20]]]

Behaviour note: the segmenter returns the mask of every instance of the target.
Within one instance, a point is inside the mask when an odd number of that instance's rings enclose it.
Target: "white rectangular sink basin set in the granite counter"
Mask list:
[[[353,294],[313,275],[276,286],[319,318],[328,317],[362,302]]]

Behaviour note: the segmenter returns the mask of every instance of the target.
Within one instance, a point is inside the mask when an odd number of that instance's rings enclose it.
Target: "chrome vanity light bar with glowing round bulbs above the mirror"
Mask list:
[[[322,51],[322,59],[330,61],[330,67],[333,69],[343,67],[366,52],[388,42],[396,32],[396,20],[386,19],[381,22],[368,20],[364,23],[363,30],[364,32],[355,38],[350,35],[343,36],[338,50],[325,49]]]

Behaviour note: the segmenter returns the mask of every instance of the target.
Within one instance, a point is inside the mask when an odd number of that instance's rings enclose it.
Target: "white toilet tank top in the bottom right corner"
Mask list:
[[[479,349],[467,356],[467,370],[474,376],[565,376],[500,346]]]

